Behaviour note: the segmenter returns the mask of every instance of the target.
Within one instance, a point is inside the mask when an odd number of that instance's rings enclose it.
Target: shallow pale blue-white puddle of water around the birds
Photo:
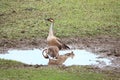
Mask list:
[[[63,64],[66,66],[70,65],[98,65],[98,66],[107,66],[111,64],[111,60],[107,58],[98,58],[99,55],[95,55],[86,50],[64,50],[60,51],[59,54],[63,55],[68,52],[73,51],[75,56],[73,59],[68,58]],[[45,59],[42,55],[41,49],[33,50],[8,50],[6,54],[0,54],[1,59],[16,60],[26,64],[32,65],[47,65],[48,59]]]

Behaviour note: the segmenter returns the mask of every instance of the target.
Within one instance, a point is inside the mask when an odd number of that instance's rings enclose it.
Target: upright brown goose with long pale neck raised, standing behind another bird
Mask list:
[[[59,50],[61,50],[61,49],[70,49],[59,38],[54,36],[54,34],[53,34],[54,20],[52,18],[48,18],[46,20],[51,22],[51,26],[50,26],[50,29],[49,29],[49,35],[47,37],[48,46],[57,46],[59,48]]]

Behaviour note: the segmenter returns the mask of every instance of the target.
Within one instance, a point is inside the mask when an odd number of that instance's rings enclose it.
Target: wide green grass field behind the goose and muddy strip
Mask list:
[[[46,38],[48,17],[58,37],[120,37],[119,0],[0,0],[0,38]]]

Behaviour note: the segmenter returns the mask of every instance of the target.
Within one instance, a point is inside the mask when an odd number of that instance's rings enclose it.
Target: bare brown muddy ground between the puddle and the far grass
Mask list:
[[[120,72],[120,38],[95,37],[95,38],[63,38],[62,41],[70,46],[71,49],[86,49],[104,57],[113,57],[115,71]],[[9,49],[32,49],[44,48],[47,46],[46,39],[21,39],[8,40],[0,39],[0,53],[5,53]],[[115,67],[117,66],[117,67]]]

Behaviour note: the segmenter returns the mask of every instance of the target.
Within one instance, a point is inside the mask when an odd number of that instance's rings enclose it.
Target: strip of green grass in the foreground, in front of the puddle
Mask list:
[[[12,65],[11,65],[12,64]],[[9,65],[9,66],[8,66]],[[19,66],[20,65],[20,66]],[[0,59],[0,80],[114,80],[108,73],[82,66],[24,67],[22,63]],[[6,67],[7,66],[7,67]]]

